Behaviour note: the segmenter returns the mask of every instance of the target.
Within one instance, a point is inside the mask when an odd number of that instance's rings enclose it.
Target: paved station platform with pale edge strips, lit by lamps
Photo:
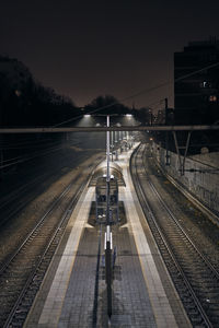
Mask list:
[[[24,327],[191,327],[138,202],[130,174],[131,150],[119,154],[125,186],[120,224],[113,229],[117,257],[113,315],[106,315],[104,226],[92,224],[95,188],[87,187],[35,297]]]

